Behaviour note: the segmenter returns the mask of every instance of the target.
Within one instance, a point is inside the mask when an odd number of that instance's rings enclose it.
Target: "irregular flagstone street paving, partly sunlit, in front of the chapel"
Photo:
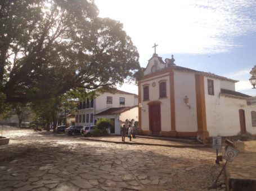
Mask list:
[[[0,190],[209,190],[222,165],[211,148],[114,144],[5,131]],[[224,177],[218,181],[225,190]]]

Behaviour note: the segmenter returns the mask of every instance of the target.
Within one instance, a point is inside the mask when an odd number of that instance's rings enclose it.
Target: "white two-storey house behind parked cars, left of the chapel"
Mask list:
[[[110,133],[120,134],[120,126],[126,119],[138,121],[138,95],[115,90],[80,101],[76,125],[93,125],[100,118],[113,120],[115,128],[110,129]]]

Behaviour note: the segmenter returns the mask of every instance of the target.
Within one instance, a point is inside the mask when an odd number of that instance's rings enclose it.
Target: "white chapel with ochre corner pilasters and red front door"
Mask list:
[[[164,62],[165,61],[165,62]],[[157,54],[139,82],[142,134],[200,137],[256,134],[256,105],[235,91],[236,80],[176,66]]]

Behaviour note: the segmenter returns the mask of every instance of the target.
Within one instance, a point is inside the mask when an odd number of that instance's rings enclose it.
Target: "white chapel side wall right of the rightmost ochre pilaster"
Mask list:
[[[236,136],[240,133],[239,109],[245,110],[246,131],[256,134],[256,127],[251,125],[251,111],[256,111],[256,105],[248,106],[244,99],[219,96],[221,83],[216,79],[214,80],[214,95],[208,95],[207,79],[209,78],[204,78],[204,84],[209,136]]]

